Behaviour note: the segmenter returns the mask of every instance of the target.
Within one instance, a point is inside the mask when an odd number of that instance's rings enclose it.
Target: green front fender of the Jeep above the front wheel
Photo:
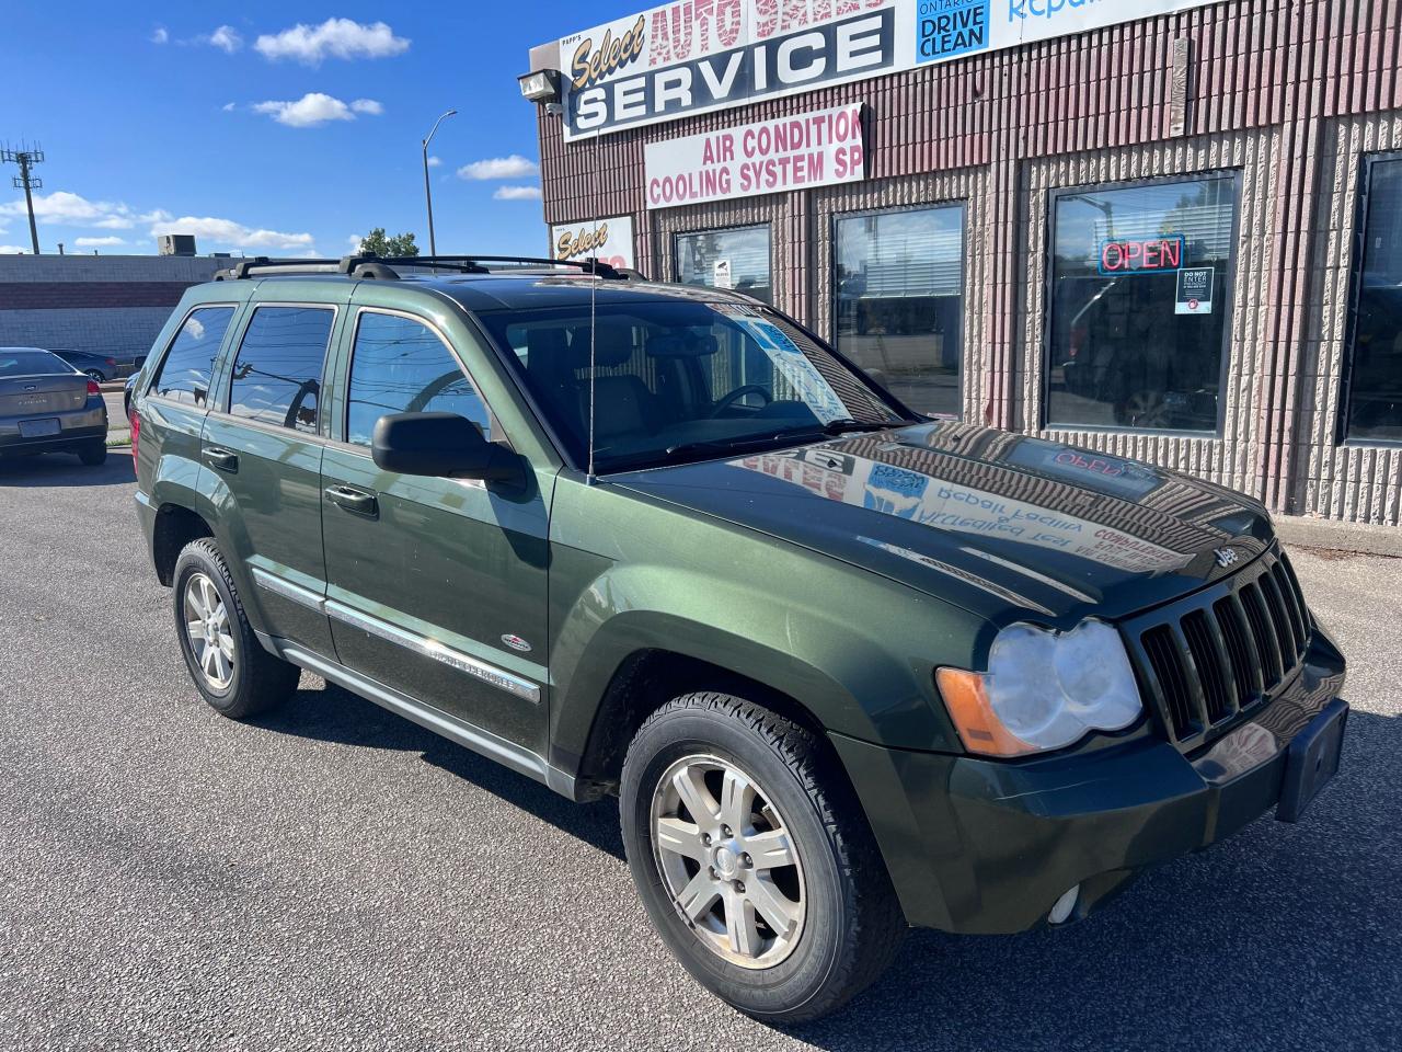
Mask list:
[[[959,749],[932,672],[967,662],[981,619],[730,523],[601,488],[586,499],[629,505],[589,516],[629,529],[590,539],[557,518],[576,543],[555,546],[551,567],[552,755],[585,755],[610,682],[639,651],[733,670],[850,738]]]

